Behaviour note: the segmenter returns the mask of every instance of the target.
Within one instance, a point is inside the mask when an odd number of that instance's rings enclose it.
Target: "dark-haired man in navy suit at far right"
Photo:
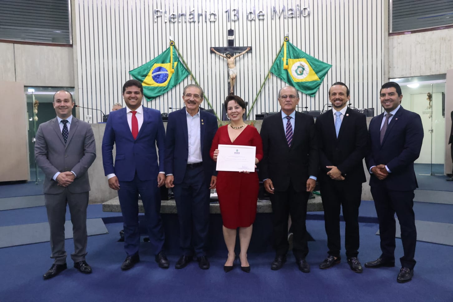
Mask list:
[[[405,110],[400,104],[400,85],[388,82],[381,87],[381,105],[385,109],[374,117],[368,129],[371,152],[366,165],[371,173],[370,186],[379,220],[381,256],[367,262],[367,268],[395,266],[395,212],[401,226],[404,256],[397,281],[408,282],[414,275],[414,254],[417,241],[414,216],[414,190],[417,179],[414,161],[423,142],[420,115]]]

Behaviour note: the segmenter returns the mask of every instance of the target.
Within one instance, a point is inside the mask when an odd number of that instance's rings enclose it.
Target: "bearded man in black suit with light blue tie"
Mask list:
[[[328,257],[319,268],[340,263],[340,207],[346,222],[345,249],[352,271],[362,272],[359,249],[359,206],[362,182],[366,182],[362,159],[368,141],[366,116],[347,107],[349,88],[342,82],[329,89],[332,110],[316,119],[319,142],[318,180],[324,207]]]

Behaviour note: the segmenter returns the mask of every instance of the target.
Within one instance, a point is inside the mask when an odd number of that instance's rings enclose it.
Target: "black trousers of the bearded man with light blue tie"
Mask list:
[[[362,184],[347,183],[347,180],[328,180],[321,182],[321,199],[324,207],[324,225],[327,234],[328,254],[340,256],[340,207],[343,208],[345,227],[346,257],[359,254],[359,206]]]

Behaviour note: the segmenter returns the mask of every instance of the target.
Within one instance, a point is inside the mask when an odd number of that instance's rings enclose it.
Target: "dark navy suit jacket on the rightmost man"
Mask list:
[[[387,189],[394,191],[415,190],[417,179],[414,161],[419,157],[423,142],[423,125],[420,115],[405,110],[402,106],[387,127],[380,142],[381,123],[384,113],[375,116],[368,132],[371,139],[371,152],[366,156],[366,166],[387,165],[391,173],[383,181],[371,174],[370,186],[383,182]]]

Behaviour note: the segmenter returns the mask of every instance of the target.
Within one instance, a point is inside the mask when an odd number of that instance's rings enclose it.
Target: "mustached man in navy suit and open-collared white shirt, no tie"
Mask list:
[[[195,255],[198,266],[208,269],[209,196],[217,181],[209,149],[217,131],[217,119],[200,110],[203,101],[200,86],[184,87],[183,101],[183,109],[169,114],[165,140],[165,186],[173,189],[183,253],[175,268],[186,267]]]

